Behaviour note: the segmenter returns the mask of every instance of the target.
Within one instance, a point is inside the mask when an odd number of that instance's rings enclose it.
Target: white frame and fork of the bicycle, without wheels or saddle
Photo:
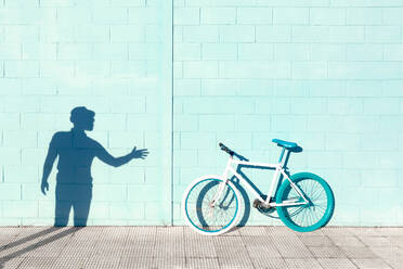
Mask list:
[[[284,151],[283,151],[283,154],[284,154]],[[283,154],[282,154],[281,159],[283,158]],[[218,201],[218,198],[221,196],[226,182],[230,180],[229,177],[227,177],[230,172],[232,172],[239,180],[239,182],[243,185],[245,185],[265,206],[275,207],[275,206],[296,206],[296,205],[308,204],[309,202],[304,197],[304,195],[302,194],[301,190],[298,188],[297,184],[295,184],[289,179],[288,175],[285,172],[285,170],[282,166],[281,159],[280,159],[278,164],[262,164],[262,163],[238,161],[238,159],[234,159],[233,156],[230,156],[230,159],[226,163],[225,170],[222,174],[223,183],[221,184],[221,187],[219,188],[219,191],[217,192],[214,198],[212,200],[213,202],[212,202],[211,206],[214,206],[216,201]],[[252,188],[250,185],[250,183],[243,176],[240,176],[238,172],[236,172],[236,170],[232,167],[233,164],[244,165],[244,166],[253,166],[253,167],[275,168],[275,171],[274,171],[274,175],[273,175],[273,178],[272,178],[272,183],[270,185],[270,190],[269,190],[269,193],[268,193],[268,197],[265,200],[263,200],[263,197],[255,190],[255,188]],[[274,194],[275,194],[274,192],[277,190],[280,175],[283,175],[283,177],[286,180],[289,181],[291,188],[298,193],[298,195],[300,197],[303,198],[304,202],[297,202],[297,201],[300,201],[300,198],[283,201],[283,203],[281,203],[281,204],[277,204],[275,202],[271,202],[272,198],[274,198]]]

